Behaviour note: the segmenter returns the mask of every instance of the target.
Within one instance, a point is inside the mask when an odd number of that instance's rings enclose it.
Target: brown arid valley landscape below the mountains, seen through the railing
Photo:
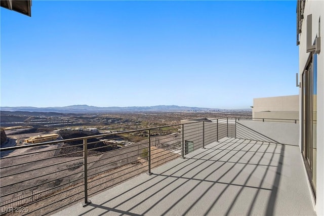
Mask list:
[[[38,215],[57,211],[58,203],[52,202],[61,198],[62,193],[64,198],[60,205],[71,205],[82,199],[83,141],[60,140],[96,136],[87,141],[88,193],[92,196],[147,171],[146,128],[165,126],[150,131],[151,167],[155,167],[180,157],[180,125],[167,125],[199,117],[252,116],[248,111],[101,114],[2,111],[2,133],[6,138],[1,147],[24,148],[1,151],[1,206],[6,209],[28,206],[29,213]],[[59,135],[55,144],[33,147],[24,143],[27,138],[53,133]],[[5,211],[2,209],[2,212]]]

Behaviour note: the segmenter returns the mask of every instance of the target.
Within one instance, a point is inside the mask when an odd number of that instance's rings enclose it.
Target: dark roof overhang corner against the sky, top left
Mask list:
[[[31,17],[31,0],[1,0],[1,7]]]

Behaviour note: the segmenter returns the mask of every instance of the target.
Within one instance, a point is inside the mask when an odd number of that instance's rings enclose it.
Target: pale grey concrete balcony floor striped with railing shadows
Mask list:
[[[55,215],[316,215],[298,146],[223,138]]]

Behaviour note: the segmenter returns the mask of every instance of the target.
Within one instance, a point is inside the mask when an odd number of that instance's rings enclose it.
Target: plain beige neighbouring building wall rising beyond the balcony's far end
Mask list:
[[[253,118],[299,119],[299,96],[253,99]]]

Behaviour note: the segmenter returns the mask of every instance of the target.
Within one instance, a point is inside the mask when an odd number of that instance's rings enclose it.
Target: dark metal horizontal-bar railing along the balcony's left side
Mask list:
[[[1,214],[43,215],[80,202],[228,137],[232,119],[1,148]]]

